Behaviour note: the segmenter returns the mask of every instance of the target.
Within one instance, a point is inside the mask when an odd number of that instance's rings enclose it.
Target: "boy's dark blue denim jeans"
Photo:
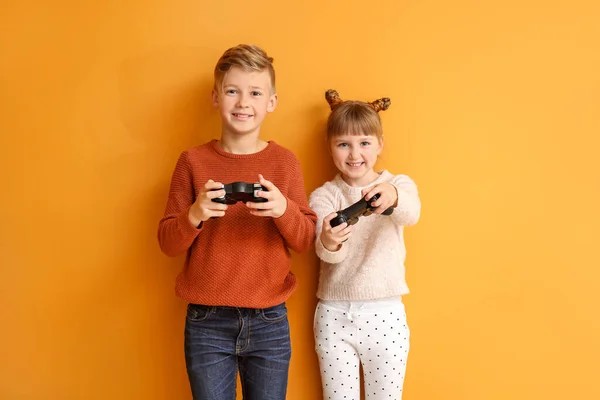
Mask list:
[[[270,308],[189,304],[185,361],[194,400],[285,400],[292,355],[285,303]]]

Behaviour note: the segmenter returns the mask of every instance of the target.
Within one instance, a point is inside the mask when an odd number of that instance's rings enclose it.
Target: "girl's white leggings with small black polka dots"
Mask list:
[[[314,321],[324,400],[402,398],[410,330],[400,298],[321,301]]]

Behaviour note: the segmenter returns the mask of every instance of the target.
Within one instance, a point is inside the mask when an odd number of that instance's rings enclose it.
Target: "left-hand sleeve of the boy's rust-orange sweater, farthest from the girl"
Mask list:
[[[168,256],[177,256],[189,249],[202,228],[190,223],[188,212],[195,201],[192,169],[185,151],[179,157],[173,177],[165,213],[158,224],[158,242]]]

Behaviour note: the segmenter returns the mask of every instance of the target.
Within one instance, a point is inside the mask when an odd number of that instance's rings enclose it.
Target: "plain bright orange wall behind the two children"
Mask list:
[[[307,193],[334,172],[325,90],[392,99],[380,166],[423,201],[405,399],[600,398],[598,2],[303,3],[2,1],[0,398],[190,398],[156,228],[238,43],[275,57],[262,137]],[[315,256],[293,269],[288,398],[319,399]]]

